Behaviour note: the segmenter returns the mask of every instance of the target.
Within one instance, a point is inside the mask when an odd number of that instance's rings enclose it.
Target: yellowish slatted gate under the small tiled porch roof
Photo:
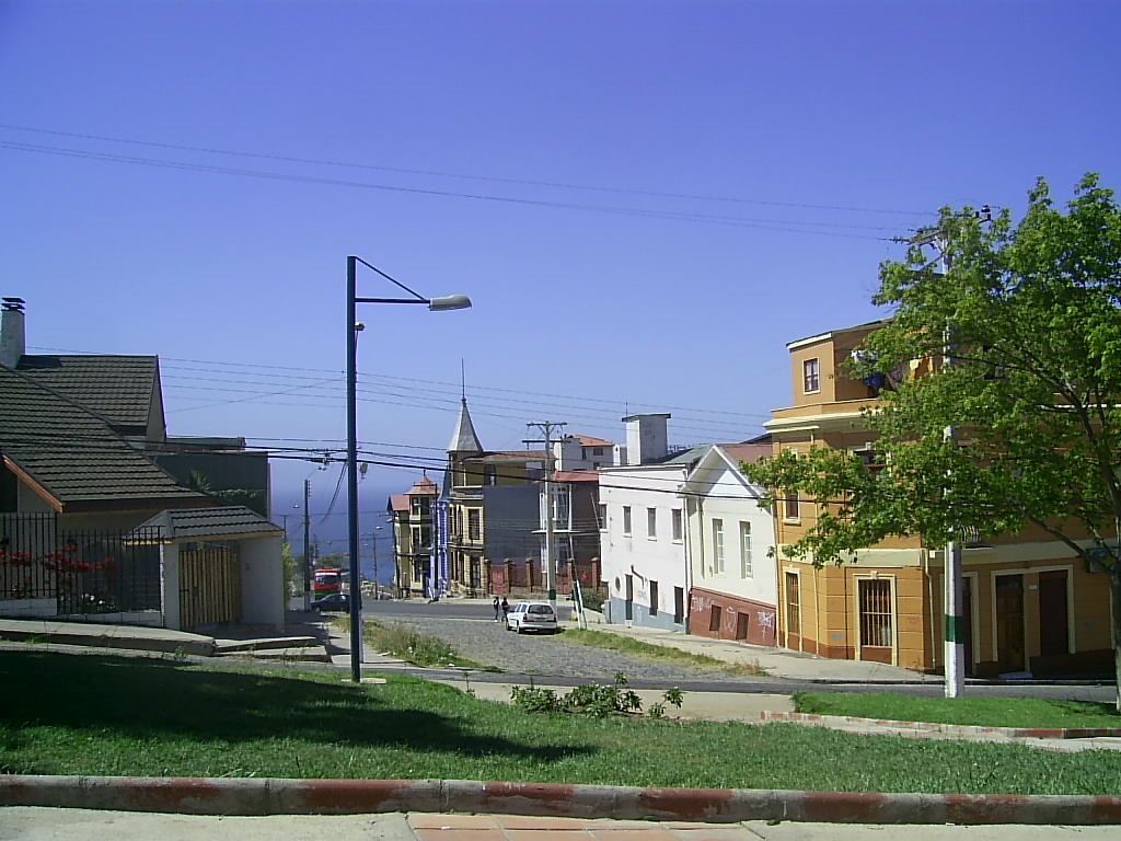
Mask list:
[[[179,549],[179,627],[241,621],[238,551],[223,544]]]

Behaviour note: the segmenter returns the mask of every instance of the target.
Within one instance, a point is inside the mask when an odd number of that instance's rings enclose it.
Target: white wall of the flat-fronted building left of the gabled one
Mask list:
[[[674,616],[674,588],[682,588],[688,597],[684,511],[682,540],[671,538],[670,514],[675,508],[683,508],[676,491],[685,479],[685,466],[680,464],[612,468],[600,472],[600,502],[608,507],[606,528],[600,538],[601,579],[608,584],[609,597],[620,602],[627,598],[626,576],[630,574],[636,612],[648,613],[649,582],[656,581],[657,612],[669,623]],[[630,535],[623,533],[623,506],[631,508]],[[657,532],[652,539],[647,535],[648,508],[657,511]],[[646,611],[639,611],[639,608]],[[622,621],[615,616],[611,620]]]

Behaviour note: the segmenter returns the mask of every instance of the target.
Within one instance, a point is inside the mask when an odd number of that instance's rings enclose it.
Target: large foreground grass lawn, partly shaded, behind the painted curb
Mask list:
[[[0,773],[1121,794],[1121,754],[540,715],[401,675],[0,653]]]

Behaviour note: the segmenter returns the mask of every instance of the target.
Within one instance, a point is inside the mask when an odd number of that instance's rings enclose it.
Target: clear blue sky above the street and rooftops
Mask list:
[[[892,237],[945,204],[1018,211],[1039,175],[1119,186],[1119,19],[2,0],[0,293],[36,351],[159,354],[173,434],[337,451],[355,253],[475,303],[362,309],[367,452],[436,463],[461,359],[489,449],[544,419],[618,440],[639,410],[676,443],[742,440],[790,401],[787,342],[880,315]],[[278,462],[278,498],[311,471]]]

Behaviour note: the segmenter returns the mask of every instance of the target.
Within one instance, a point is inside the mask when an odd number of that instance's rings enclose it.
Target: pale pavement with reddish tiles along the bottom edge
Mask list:
[[[876,824],[706,824],[648,821],[585,821],[571,817],[448,815],[420,812],[370,815],[210,815],[100,812],[11,806],[0,839],[19,841],[883,841],[891,830]],[[1056,834],[1087,841],[1117,837],[1117,826],[899,826],[912,841],[1045,841]]]

